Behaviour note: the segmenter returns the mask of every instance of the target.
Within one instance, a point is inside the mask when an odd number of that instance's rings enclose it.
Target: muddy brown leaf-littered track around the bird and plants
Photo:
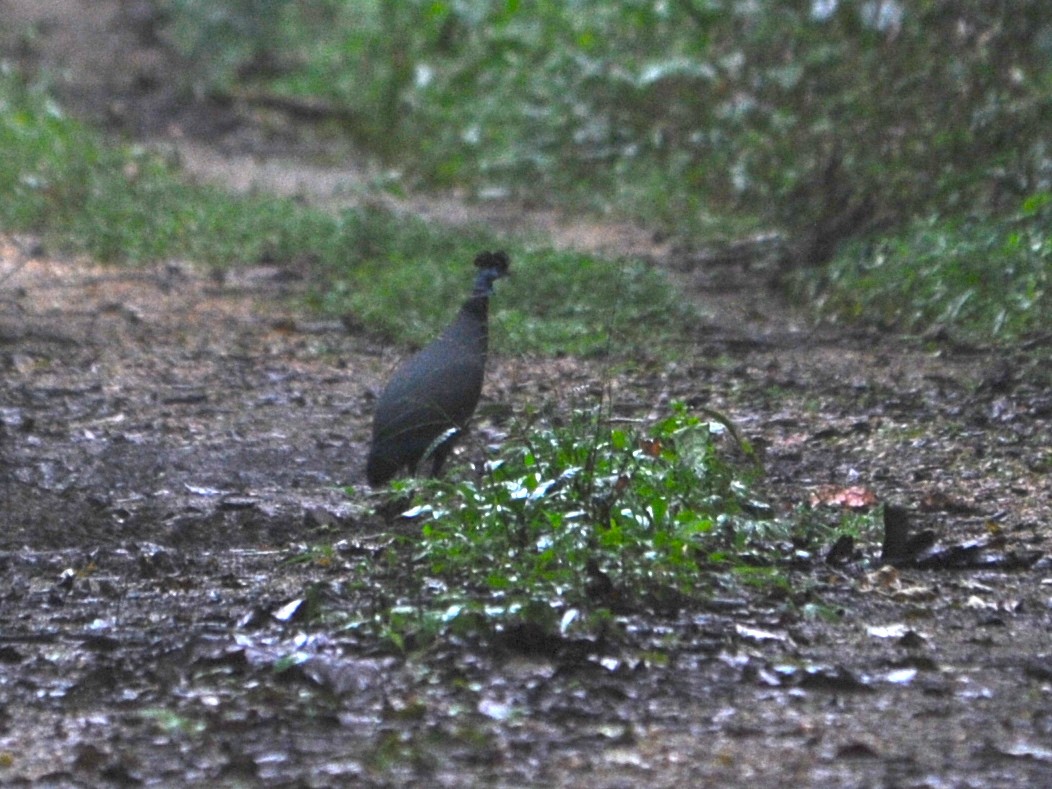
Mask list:
[[[180,103],[135,6],[7,2],[0,44],[196,178],[320,205],[368,179],[244,108]],[[780,510],[862,488],[942,547],[924,568],[879,568],[879,546],[810,566],[831,621],[756,596],[635,623],[641,645],[674,636],[667,662],[397,656],[302,627],[286,604],[346,585],[344,559],[384,540],[379,500],[342,486],[364,489],[397,352],[303,311],[281,262],[219,278],[0,237],[0,784],[1052,785],[1047,338],[815,329],[748,271],[700,269],[641,228],[450,196],[394,207],[644,256],[707,316],[650,369],[493,359],[488,401],[704,403],[763,447]],[[289,561],[318,543],[338,550]]]

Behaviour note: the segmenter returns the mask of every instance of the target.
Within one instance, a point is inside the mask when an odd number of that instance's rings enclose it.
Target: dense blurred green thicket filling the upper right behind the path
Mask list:
[[[1046,6],[166,0],[165,35],[417,182],[700,243],[881,228],[804,287],[827,315],[1010,339],[1049,316],[1048,224],[1005,216],[1048,197]]]

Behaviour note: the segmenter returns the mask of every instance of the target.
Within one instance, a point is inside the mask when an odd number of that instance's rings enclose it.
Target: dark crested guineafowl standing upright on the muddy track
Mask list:
[[[445,331],[394,370],[377,400],[365,476],[383,485],[403,468],[416,472],[431,450],[438,474],[458,433],[474,412],[486,367],[489,297],[508,272],[503,251],[480,252],[474,289]],[[443,438],[445,437],[445,438]]]

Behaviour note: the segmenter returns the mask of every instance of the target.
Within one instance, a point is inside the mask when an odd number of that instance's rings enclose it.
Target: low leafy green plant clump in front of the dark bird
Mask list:
[[[676,404],[649,426],[600,409],[563,426],[527,419],[481,477],[396,483],[414,498],[405,515],[420,533],[372,569],[394,602],[346,627],[400,652],[509,633],[544,649],[616,641],[632,615],[674,615],[728,590],[835,615],[789,568],[821,561],[842,535],[872,542],[879,511],[773,518],[751,449],[734,439],[750,462],[732,460],[730,423],[707,417]]]

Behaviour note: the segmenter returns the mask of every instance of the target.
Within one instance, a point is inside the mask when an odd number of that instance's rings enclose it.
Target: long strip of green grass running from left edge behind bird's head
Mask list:
[[[642,263],[527,246],[362,208],[339,215],[285,198],[188,183],[163,158],[107,144],[45,90],[0,74],[0,227],[102,262],[188,259],[223,267],[308,259],[309,303],[417,344],[466,297],[483,248],[513,277],[494,302],[494,346],[537,353],[665,356],[694,318],[664,274]],[[507,287],[505,287],[507,285]]]

